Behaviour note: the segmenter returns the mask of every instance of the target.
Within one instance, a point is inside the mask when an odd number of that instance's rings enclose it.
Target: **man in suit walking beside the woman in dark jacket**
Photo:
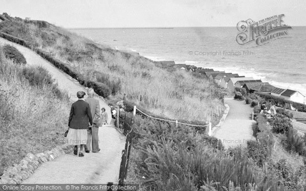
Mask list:
[[[99,127],[97,126],[98,118],[100,115],[100,103],[99,100],[95,99],[94,91],[92,88],[87,90],[88,98],[85,99],[90,106],[90,112],[92,115],[92,128],[89,128],[87,131],[87,144],[85,145],[85,152],[89,153],[90,151],[90,140],[92,145],[92,152],[99,152],[99,137],[98,137],[98,130]]]

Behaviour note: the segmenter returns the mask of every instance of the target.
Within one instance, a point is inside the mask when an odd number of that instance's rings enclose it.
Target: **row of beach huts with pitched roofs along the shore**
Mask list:
[[[286,100],[304,103],[305,96],[300,92],[290,89],[277,88],[261,79],[253,77],[240,76],[239,74],[227,73],[225,71],[214,71],[211,68],[201,68],[193,65],[175,64],[174,61],[161,61],[163,65],[168,65],[182,70],[196,72],[203,77],[208,78],[221,88],[227,89],[229,92],[234,92],[235,88],[245,88],[248,93],[261,92],[282,97]]]

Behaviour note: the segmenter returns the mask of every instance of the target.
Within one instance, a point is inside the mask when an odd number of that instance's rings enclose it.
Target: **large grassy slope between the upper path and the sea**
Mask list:
[[[115,89],[113,98],[122,98],[125,93],[127,100],[156,115],[190,121],[206,121],[211,108],[223,108],[218,99],[189,97],[219,94],[206,79],[163,69],[148,59],[95,44],[54,25],[39,27],[37,22],[11,20],[0,23],[0,31],[31,42],[33,47],[49,52],[92,80],[107,81]]]

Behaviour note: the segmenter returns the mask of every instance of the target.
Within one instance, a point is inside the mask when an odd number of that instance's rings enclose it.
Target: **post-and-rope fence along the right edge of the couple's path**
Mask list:
[[[144,112],[142,112],[141,110],[139,110],[136,105],[134,105],[134,110],[133,110],[133,117],[129,117],[126,116],[126,114],[123,117],[123,134],[125,135],[126,139],[125,139],[125,147],[124,150],[122,150],[122,154],[121,154],[121,163],[120,163],[120,171],[119,171],[119,181],[118,184],[123,184],[124,183],[124,179],[126,178],[126,174],[127,174],[127,168],[129,165],[129,158],[130,158],[130,152],[131,152],[131,146],[132,146],[132,133],[133,133],[133,128],[134,128],[134,118],[136,116],[136,111],[140,112],[141,114],[145,115],[148,118],[151,119],[156,119],[156,120],[161,120],[161,121],[167,121],[167,122],[173,122],[176,124],[183,124],[183,125],[188,125],[188,126],[196,126],[196,127],[209,127],[209,132],[208,134],[211,136],[212,135],[212,123],[209,122],[207,125],[194,125],[194,124],[188,124],[188,123],[182,123],[179,122],[177,120],[173,121],[173,120],[166,120],[166,119],[161,119],[161,118],[157,118],[157,117],[152,117],[149,116],[147,114],[145,114]],[[116,120],[116,126],[117,128],[119,128],[119,111],[117,112],[117,120]]]

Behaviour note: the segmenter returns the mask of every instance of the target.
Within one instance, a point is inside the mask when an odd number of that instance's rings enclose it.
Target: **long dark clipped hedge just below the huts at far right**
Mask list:
[[[265,98],[266,101],[274,102],[275,105],[282,105],[283,107],[286,106],[286,104],[291,104],[298,112],[306,112],[306,105],[302,103],[297,103],[294,101],[286,100],[282,97],[273,96],[270,94],[260,93],[256,92],[257,95]]]

